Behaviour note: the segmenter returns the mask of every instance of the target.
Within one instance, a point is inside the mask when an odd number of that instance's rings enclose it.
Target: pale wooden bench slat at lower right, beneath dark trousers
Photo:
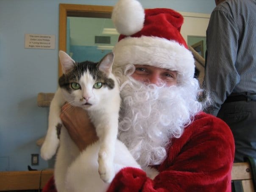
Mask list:
[[[246,180],[252,178],[250,164],[248,162],[234,163],[231,172],[232,180]]]

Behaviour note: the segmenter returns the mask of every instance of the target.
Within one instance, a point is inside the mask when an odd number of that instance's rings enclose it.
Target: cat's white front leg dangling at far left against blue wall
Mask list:
[[[61,89],[58,88],[50,104],[48,130],[40,152],[42,158],[45,160],[52,158],[57,151],[59,139],[56,126],[62,125],[59,116],[61,113],[61,106],[64,103],[65,100],[62,97]]]

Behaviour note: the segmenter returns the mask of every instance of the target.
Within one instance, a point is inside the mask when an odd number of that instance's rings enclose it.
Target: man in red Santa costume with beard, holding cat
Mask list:
[[[234,139],[225,122],[202,112],[181,14],[119,0],[112,19],[121,34],[113,50],[122,98],[118,137],[142,170],[123,168],[108,191],[231,191]],[[66,111],[61,120],[83,150],[97,136],[89,120],[80,118],[85,111],[76,113]],[[156,175],[149,177],[147,167]],[[49,181],[44,190],[53,185]]]

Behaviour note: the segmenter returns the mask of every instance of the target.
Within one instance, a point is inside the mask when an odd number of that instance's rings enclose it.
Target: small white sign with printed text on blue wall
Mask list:
[[[25,48],[55,49],[55,35],[25,34]]]

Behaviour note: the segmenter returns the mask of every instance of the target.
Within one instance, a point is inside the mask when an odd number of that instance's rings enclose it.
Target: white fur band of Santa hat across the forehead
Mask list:
[[[117,42],[113,52],[113,68],[141,64],[177,71],[186,78],[194,76],[192,53],[172,40],[153,36],[126,37]]]

